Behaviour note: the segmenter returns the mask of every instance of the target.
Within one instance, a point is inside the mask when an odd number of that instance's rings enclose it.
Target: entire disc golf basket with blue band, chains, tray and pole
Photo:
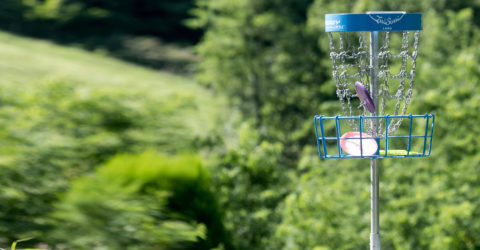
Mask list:
[[[371,159],[370,249],[380,249],[377,160],[428,157],[432,149],[435,116],[406,114],[421,18],[406,12],[325,15],[343,115],[315,116],[318,153],[322,159]]]

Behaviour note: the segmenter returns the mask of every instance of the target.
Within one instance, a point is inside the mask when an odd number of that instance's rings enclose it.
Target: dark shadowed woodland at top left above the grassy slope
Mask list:
[[[0,29],[48,39],[173,73],[193,72],[191,46],[201,30],[187,27],[193,0],[66,0],[0,2]]]

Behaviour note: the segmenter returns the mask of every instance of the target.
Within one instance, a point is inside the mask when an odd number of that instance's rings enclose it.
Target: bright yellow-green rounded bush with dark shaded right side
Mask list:
[[[54,213],[64,225],[54,233],[56,241],[74,249],[210,249],[228,243],[209,178],[197,156],[118,155],[73,182]]]

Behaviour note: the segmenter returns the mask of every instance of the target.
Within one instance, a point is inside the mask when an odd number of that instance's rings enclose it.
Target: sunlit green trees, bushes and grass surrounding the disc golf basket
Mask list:
[[[480,248],[478,2],[134,2],[0,1],[4,29],[69,40],[0,32],[0,247],[367,248],[368,160],[315,145],[313,116],[341,113],[324,14],[405,10],[423,13],[407,112],[436,126],[429,158],[381,160],[382,247]],[[148,6],[190,16],[136,33]],[[168,61],[185,48],[165,34],[200,29],[176,71],[195,78],[111,58],[112,23],[137,59]]]

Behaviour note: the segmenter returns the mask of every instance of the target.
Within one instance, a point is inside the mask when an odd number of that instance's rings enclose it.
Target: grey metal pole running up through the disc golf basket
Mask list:
[[[370,32],[370,93],[375,104],[375,114],[378,115],[378,31]],[[378,119],[372,119],[373,136],[378,136]],[[378,168],[377,159],[370,160],[370,250],[380,250],[380,227],[378,212]]]

